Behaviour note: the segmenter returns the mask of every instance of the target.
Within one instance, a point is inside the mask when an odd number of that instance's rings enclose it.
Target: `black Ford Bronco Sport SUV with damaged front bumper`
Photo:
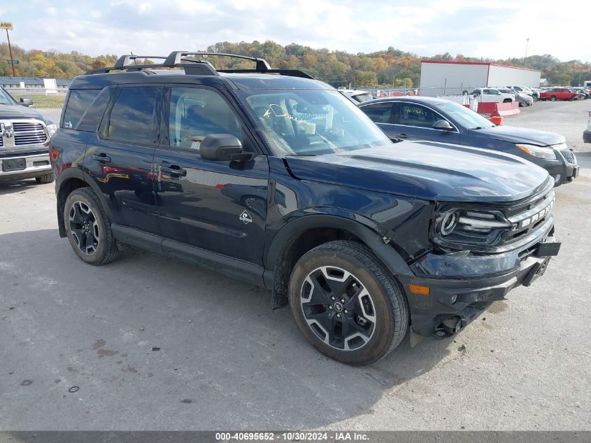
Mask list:
[[[203,55],[122,56],[73,80],[50,158],[59,234],[85,262],[131,244],[265,286],[315,348],[364,365],[409,328],[455,334],[556,255],[544,169],[394,148],[306,73]]]

